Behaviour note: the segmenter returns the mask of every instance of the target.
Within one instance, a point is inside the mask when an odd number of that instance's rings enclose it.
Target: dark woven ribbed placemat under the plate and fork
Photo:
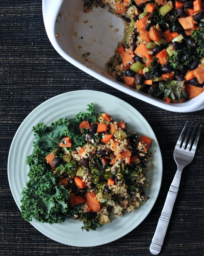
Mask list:
[[[1,0],[0,12],[0,255],[151,255],[151,239],[176,171],[173,160],[175,143],[186,120],[203,124],[204,111],[181,114],[159,109],[72,66],[57,54],[48,40],[39,0]],[[12,197],[7,178],[8,151],[23,119],[45,100],[80,89],[100,90],[134,106],[156,134],[164,168],[160,193],[148,217],[121,239],[86,248],[55,242],[25,222]],[[193,162],[182,175],[160,255],[203,255],[203,140],[204,132]]]

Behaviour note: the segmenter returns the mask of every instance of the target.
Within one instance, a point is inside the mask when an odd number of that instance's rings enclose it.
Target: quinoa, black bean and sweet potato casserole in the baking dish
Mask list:
[[[124,21],[124,38],[106,63],[118,82],[167,103],[203,93],[202,0],[83,0],[84,12],[109,6]]]

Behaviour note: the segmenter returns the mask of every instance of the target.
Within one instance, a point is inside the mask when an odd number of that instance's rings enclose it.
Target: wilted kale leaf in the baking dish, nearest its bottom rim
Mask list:
[[[159,88],[164,91],[166,98],[180,101],[187,98],[182,81],[168,79],[166,83],[159,83]]]

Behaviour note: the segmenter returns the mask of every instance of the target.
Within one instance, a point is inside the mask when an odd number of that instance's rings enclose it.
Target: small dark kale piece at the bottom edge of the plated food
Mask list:
[[[99,216],[93,215],[90,212],[84,212],[81,214],[81,218],[83,219],[84,226],[82,227],[82,230],[96,230],[101,226],[101,224],[98,222]]]

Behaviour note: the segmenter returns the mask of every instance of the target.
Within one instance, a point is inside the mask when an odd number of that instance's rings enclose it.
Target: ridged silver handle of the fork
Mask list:
[[[152,243],[150,245],[150,252],[154,255],[159,254],[162,249],[165,234],[166,234],[171,213],[173,210],[173,205],[178,194],[179,184],[181,180],[181,173],[182,173],[182,170],[179,170],[178,168],[174,176],[174,179],[171,183],[171,186],[169,188],[167,198],[164,204],[164,208],[162,210],[161,216],[159,218],[159,221],[156,227],[156,231],[152,239]]]

